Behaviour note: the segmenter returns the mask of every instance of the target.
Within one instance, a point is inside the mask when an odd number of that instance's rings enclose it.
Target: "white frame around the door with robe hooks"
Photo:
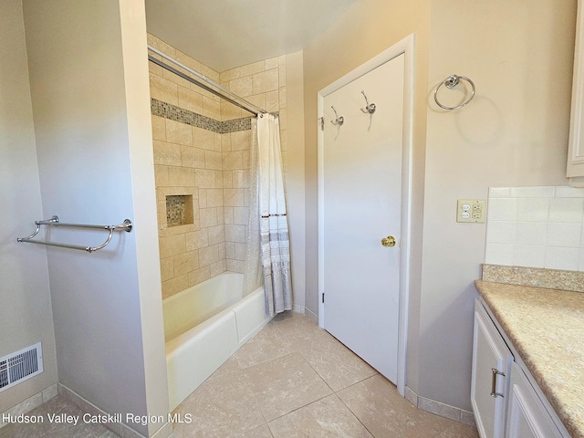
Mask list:
[[[413,153],[413,87],[414,87],[414,35],[406,36],[400,42],[384,50],[376,57],[347,73],[324,89],[318,91],[318,326],[324,328],[324,131],[320,121],[324,116],[324,99],[329,94],[380,67],[401,54],[404,58],[403,71],[403,130],[401,154],[401,251],[399,283],[398,321],[398,381],[397,389],[405,397],[406,349],[408,308],[410,289],[410,256],[412,243],[412,153]]]

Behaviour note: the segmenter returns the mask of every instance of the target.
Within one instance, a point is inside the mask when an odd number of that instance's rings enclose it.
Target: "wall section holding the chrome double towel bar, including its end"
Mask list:
[[[135,224],[91,255],[47,249],[58,381],[105,412],[165,416],[144,5],[26,1],[24,17],[43,212]],[[162,424],[129,426],[150,436]]]

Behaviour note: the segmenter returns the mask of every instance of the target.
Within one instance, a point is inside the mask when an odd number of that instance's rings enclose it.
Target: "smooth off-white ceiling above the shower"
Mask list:
[[[356,1],[146,0],[146,26],[222,72],[301,50]]]

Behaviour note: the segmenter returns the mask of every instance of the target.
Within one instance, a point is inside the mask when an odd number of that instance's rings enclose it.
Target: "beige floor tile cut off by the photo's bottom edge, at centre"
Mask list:
[[[268,425],[274,438],[372,436],[335,394],[290,412]]]

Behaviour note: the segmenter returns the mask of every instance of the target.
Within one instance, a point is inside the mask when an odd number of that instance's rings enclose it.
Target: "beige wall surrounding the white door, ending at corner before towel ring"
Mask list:
[[[360,0],[304,50],[306,129],[306,307],[318,315],[317,93],[371,57],[415,34],[412,278],[408,384],[416,388],[420,308],[422,193],[430,0]]]

